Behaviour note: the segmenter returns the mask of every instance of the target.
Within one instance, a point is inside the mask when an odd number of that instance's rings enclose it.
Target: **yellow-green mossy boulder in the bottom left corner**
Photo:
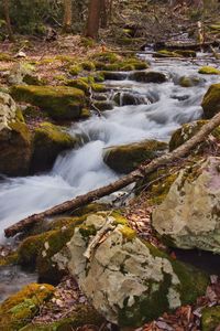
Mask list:
[[[38,308],[54,292],[47,284],[30,284],[0,305],[0,328],[19,331],[31,322]]]

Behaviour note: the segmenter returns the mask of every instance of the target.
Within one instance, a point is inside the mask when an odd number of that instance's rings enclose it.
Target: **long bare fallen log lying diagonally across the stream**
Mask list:
[[[193,148],[195,148],[198,143],[202,142],[206,139],[206,137],[219,125],[220,125],[220,113],[217,114],[212,119],[210,119],[208,124],[202,126],[202,128],[191,139],[186,141],[184,145],[182,145],[174,151],[167,152],[166,154],[154,159],[147,164],[140,166],[136,170],[132,171],[128,175],[120,178],[113,183],[92,190],[86,194],[78,195],[70,201],[66,201],[45,212],[33,214],[15,223],[14,225],[4,229],[6,236],[7,237],[14,236],[15,234],[22,231],[26,231],[28,228],[30,228],[32,225],[43,220],[44,217],[51,217],[54,215],[74,211],[102,196],[109,195],[118,190],[121,190],[128,186],[129,184],[136,182],[140,179],[145,178],[147,174],[155,171],[158,167],[168,164],[175,160],[178,160],[179,158],[185,157],[187,153],[190,152]]]

